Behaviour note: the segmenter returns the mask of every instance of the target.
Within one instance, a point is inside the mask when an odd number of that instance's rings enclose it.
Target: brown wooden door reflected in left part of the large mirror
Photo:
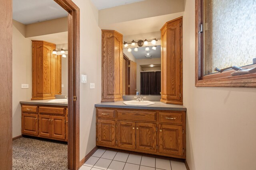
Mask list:
[[[134,61],[130,60],[130,69],[129,69],[129,94],[136,95],[137,88],[137,64]]]

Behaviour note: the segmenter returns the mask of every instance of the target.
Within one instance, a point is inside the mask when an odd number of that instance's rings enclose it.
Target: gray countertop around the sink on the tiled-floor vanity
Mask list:
[[[120,102],[104,102],[95,104],[95,107],[110,107],[110,108],[124,108],[124,109],[151,109],[151,110],[175,110],[186,111],[186,107],[174,104],[165,104],[162,102],[155,102],[156,104],[150,106],[130,106],[125,105],[123,101]]]

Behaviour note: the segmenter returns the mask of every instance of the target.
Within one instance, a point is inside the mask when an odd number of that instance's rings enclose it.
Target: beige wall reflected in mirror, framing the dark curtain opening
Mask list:
[[[146,65],[146,64],[161,64],[161,58],[154,58],[154,59],[137,59],[137,89],[138,92],[140,92],[140,65]]]

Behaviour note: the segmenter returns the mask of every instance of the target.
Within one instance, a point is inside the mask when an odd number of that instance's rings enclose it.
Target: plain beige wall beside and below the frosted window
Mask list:
[[[256,169],[256,88],[195,87],[195,1],[183,18],[183,97],[190,170]]]

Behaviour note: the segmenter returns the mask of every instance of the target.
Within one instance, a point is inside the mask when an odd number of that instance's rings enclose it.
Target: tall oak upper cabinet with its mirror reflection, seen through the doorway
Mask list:
[[[32,99],[54,99],[60,90],[61,61],[58,61],[52,51],[56,45],[45,41],[32,41]],[[60,58],[61,60],[61,58]],[[61,85],[60,85],[61,86]]]

